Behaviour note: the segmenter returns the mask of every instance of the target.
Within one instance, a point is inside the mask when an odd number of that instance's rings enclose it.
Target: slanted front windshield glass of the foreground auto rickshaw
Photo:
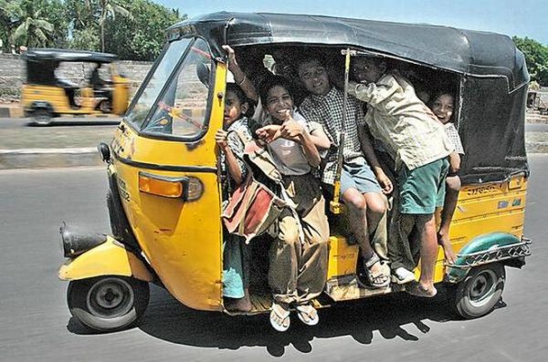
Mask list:
[[[163,51],[163,56],[156,61],[153,71],[145,79],[145,84],[142,85],[140,93],[133,99],[132,106],[127,113],[127,120],[136,129],[141,128],[142,122],[146,119],[149,111],[154,108],[156,98],[160,95],[167,79],[173,73],[179,59],[183,57],[184,51],[191,41],[192,39],[184,38],[169,43]]]

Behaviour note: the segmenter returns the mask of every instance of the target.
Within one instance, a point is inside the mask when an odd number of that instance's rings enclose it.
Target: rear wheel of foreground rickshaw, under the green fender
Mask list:
[[[458,315],[466,319],[487,315],[501,300],[505,282],[502,264],[472,268],[462,282],[448,289],[448,302]]]

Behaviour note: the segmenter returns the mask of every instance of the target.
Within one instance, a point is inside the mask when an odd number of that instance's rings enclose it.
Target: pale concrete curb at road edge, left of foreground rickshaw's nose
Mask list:
[[[102,164],[95,147],[79,149],[0,150],[0,170],[39,169]]]

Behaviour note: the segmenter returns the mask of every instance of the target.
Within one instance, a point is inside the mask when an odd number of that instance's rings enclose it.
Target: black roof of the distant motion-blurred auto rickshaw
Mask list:
[[[54,60],[63,62],[111,63],[118,60],[114,54],[90,52],[86,50],[66,50],[53,48],[32,48],[25,53],[27,61]]]

